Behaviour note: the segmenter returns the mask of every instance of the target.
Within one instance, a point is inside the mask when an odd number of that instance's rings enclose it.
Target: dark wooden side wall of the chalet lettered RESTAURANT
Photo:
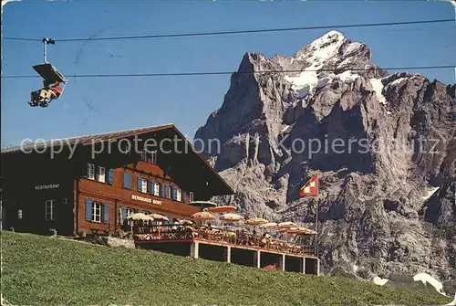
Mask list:
[[[68,163],[36,155],[2,159],[2,192],[5,229],[48,235],[73,234],[73,176]],[[36,189],[40,185],[51,188]],[[54,220],[46,219],[46,200],[54,200]],[[18,211],[22,211],[22,219]]]

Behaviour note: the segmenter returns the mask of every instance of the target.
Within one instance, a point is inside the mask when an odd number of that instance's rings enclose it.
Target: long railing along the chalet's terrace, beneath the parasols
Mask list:
[[[262,237],[240,231],[234,232],[223,228],[165,225],[134,227],[133,238],[137,241],[182,241],[202,240],[217,244],[226,244],[244,248],[272,250],[291,255],[315,255],[315,249],[309,245],[295,244],[272,237]]]

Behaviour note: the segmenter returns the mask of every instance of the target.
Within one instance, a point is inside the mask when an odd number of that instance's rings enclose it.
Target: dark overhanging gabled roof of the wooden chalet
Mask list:
[[[123,153],[122,150],[127,148],[128,143],[130,143],[130,153]],[[157,150],[157,164],[164,173],[183,190],[193,191],[197,199],[210,199],[214,195],[234,193],[233,188],[204,160],[201,154],[194,151],[192,143],[173,124],[79,137],[67,143],[67,150],[57,150],[56,147],[47,145],[46,148],[41,148],[41,154],[45,150],[49,153],[54,150],[59,152],[55,154],[56,158],[67,159],[71,145],[73,158],[76,156],[82,156],[84,160],[100,158],[113,168],[138,162],[140,152],[144,148],[150,152]],[[5,150],[2,155],[5,157],[5,154],[10,153],[16,155],[22,152]],[[49,156],[48,153],[46,155]]]

